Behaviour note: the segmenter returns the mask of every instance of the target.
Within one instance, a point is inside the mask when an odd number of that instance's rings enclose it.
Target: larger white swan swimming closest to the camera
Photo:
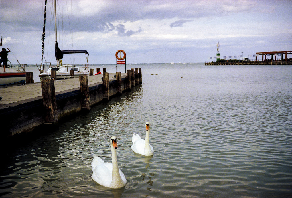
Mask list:
[[[104,163],[102,159],[93,155],[94,159],[91,163],[92,176],[91,178],[98,184],[109,188],[124,187],[127,180],[124,173],[119,169],[117,161],[117,137],[110,138],[110,145],[112,148],[112,163]]]

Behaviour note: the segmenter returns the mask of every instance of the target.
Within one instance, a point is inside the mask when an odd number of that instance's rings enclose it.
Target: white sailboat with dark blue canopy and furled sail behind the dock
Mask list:
[[[74,71],[74,77],[79,77],[82,75],[89,75],[88,69],[88,52],[86,50],[60,50],[58,47],[57,41],[57,15],[56,15],[56,0],[54,0],[54,8],[55,8],[55,57],[56,57],[56,66],[52,67],[51,63],[43,64],[44,57],[44,40],[45,40],[45,27],[46,27],[46,5],[47,0],[45,1],[45,14],[44,14],[44,29],[43,29],[43,47],[42,47],[42,58],[41,58],[41,66],[39,68],[39,77],[41,80],[50,79],[51,71],[56,71],[57,79],[67,79],[70,78],[70,70]],[[64,54],[85,54],[86,63],[80,65],[72,65],[72,64],[62,64],[62,59]],[[48,70],[45,72],[45,65]],[[55,79],[55,80],[57,80]]]

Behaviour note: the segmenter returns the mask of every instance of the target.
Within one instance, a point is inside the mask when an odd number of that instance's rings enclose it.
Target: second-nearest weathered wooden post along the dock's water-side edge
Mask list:
[[[79,76],[80,91],[81,91],[81,109],[90,111],[88,77],[86,75]]]

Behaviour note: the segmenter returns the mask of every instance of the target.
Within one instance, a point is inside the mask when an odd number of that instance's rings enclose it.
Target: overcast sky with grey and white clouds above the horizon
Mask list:
[[[1,47],[11,63],[41,63],[44,4],[0,0]],[[48,0],[44,51],[55,63],[52,6]],[[218,41],[220,58],[292,51],[291,0],[59,0],[57,7],[59,47],[87,50],[90,64],[115,64],[119,49],[127,63],[205,62],[215,60]]]

